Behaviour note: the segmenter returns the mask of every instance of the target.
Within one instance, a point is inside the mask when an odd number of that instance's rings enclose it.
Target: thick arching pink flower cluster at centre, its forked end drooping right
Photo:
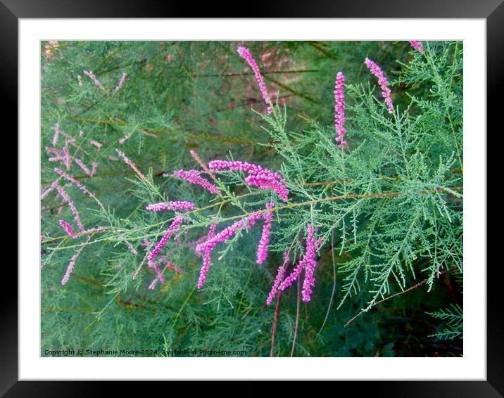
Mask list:
[[[248,186],[257,186],[261,189],[271,189],[284,202],[287,201],[289,190],[280,182],[282,176],[278,172],[272,172],[265,167],[254,165],[253,163],[240,162],[239,160],[212,160],[208,163],[212,172],[219,172],[223,169],[246,172],[245,182]]]

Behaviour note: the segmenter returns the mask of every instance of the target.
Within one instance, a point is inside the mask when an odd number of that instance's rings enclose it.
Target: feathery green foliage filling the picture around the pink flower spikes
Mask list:
[[[267,86],[279,93],[269,116],[238,45],[68,41],[43,54],[42,191],[58,177],[54,166],[63,168],[44,150],[58,122],[75,139],[73,157],[99,163],[92,177],[75,164],[69,171],[96,200],[64,179],[60,184],[87,229],[103,231],[65,236],[58,220],[73,222],[70,209],[54,192],[42,200],[42,355],[72,348],[268,356],[275,320],[277,356],[291,354],[294,335],[295,356],[458,355],[458,347],[432,337],[462,337],[462,309],[448,307],[462,294],[462,44],[425,42],[420,53],[408,42],[246,43]],[[366,56],[391,80],[393,114]],[[82,70],[92,70],[106,90]],[[346,148],[334,140],[339,70],[346,77]],[[113,90],[123,72],[124,85]],[[205,162],[228,158],[279,171],[289,201],[246,186],[241,172],[217,174],[221,195],[163,176],[199,168],[189,149]],[[163,250],[182,274],[167,268],[165,283],[151,290],[156,274],[146,253],[173,215],[144,208],[168,200],[197,208],[184,213],[184,233]],[[196,289],[201,258],[194,242],[211,224],[220,231],[263,212],[267,202],[275,203],[267,263],[255,263],[260,228],[241,231],[218,245],[206,284]],[[295,283],[275,314],[276,302],[267,306],[265,299],[282,252],[297,261],[308,223],[322,238],[315,292],[299,303]],[[391,295],[398,297],[379,304]],[[448,309],[433,312],[440,307]],[[448,321],[446,328],[432,335],[426,312]]]

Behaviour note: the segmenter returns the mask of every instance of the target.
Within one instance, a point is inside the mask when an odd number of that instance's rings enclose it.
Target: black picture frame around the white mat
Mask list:
[[[13,120],[18,104],[18,20],[20,18],[191,18],[205,17],[215,9],[229,10],[232,18],[484,18],[487,37],[487,120],[501,119],[502,103],[498,91],[504,75],[504,4],[503,0],[310,0],[262,1],[229,5],[170,1],[112,0],[0,0],[0,84],[4,97],[4,120]],[[244,10],[244,11],[241,11]],[[219,15],[222,17],[222,15]],[[5,101],[6,100],[6,101]],[[17,129],[17,122],[13,123]],[[488,123],[491,126],[491,123]],[[498,124],[495,124],[496,126]],[[498,130],[502,131],[502,122]],[[481,132],[485,134],[485,132]],[[23,211],[18,207],[19,212]],[[19,237],[22,238],[22,237]],[[481,248],[486,263],[486,248]],[[486,264],[482,263],[482,267]],[[503,397],[504,328],[500,307],[500,262],[487,267],[487,379],[486,381],[387,381],[346,382],[359,395],[387,397]],[[18,381],[18,291],[17,274],[11,264],[4,264],[4,283],[0,290],[0,395],[5,397],[89,397],[103,393],[103,383]],[[11,290],[7,286],[11,286]],[[58,378],[58,375],[54,375]],[[225,378],[225,376],[223,377]],[[359,383],[358,386],[353,383]],[[114,383],[115,394],[121,387]],[[123,385],[125,386],[125,385]],[[129,386],[129,385],[128,385]],[[335,391],[334,393],[338,393]]]

